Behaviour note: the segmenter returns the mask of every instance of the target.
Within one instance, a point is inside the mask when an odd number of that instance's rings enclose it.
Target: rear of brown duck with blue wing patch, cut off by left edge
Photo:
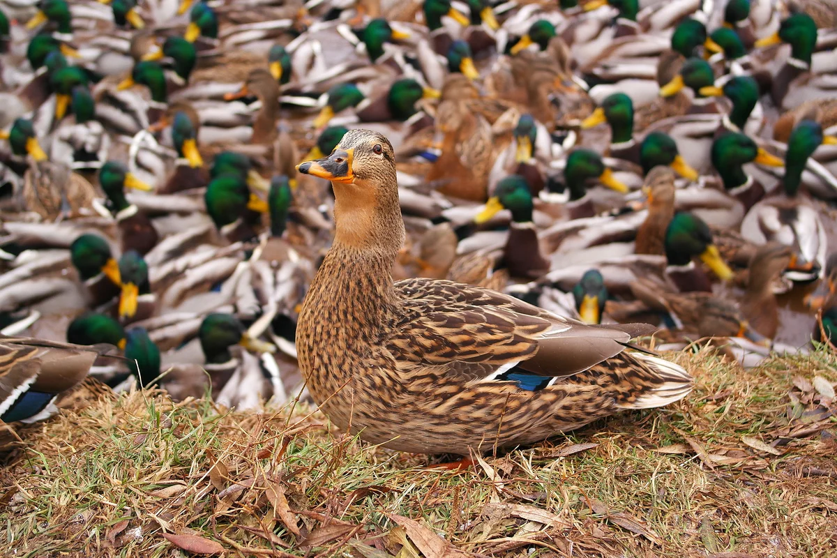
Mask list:
[[[87,377],[110,346],[78,346],[28,337],[0,337],[0,421],[34,422],[49,404]]]

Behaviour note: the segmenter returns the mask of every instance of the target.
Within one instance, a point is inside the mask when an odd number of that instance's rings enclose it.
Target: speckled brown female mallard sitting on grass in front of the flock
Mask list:
[[[335,190],[336,238],[302,306],[296,348],[311,396],[338,427],[387,448],[468,455],[691,391],[680,366],[625,350],[643,325],[583,325],[437,279],[393,284],[404,229],[384,136],[349,131],[331,156],[299,170]]]

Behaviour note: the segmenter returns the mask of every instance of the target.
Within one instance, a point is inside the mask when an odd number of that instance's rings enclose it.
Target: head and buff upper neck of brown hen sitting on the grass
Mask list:
[[[350,130],[331,155],[296,166],[303,174],[325,178],[334,188],[335,243],[392,255],[404,239],[398,205],[395,151],[371,130]]]

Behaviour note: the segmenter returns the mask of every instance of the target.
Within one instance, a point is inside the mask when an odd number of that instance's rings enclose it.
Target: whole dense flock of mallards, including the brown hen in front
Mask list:
[[[686,395],[679,366],[624,351],[649,332],[634,322],[663,327],[663,348],[721,338],[747,364],[837,331],[833,0],[0,9],[4,422],[89,373],[239,409],[308,397],[306,376],[377,442],[413,390],[472,396],[444,407],[460,424],[527,392],[493,439],[531,441]],[[400,208],[403,244],[373,207]],[[393,264],[346,255],[375,243]],[[391,299],[427,307],[384,327]],[[500,342],[487,325],[507,321]],[[409,389],[384,338],[424,363]],[[598,360],[573,361],[579,343]],[[372,353],[380,381],[353,393],[381,404],[343,421],[353,400],[330,398],[351,376],[335,372]],[[437,377],[439,359],[461,366]],[[443,432],[391,447],[487,439]]]

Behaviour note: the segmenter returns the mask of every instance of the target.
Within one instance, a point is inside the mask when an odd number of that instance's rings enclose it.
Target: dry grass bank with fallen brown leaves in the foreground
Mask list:
[[[76,400],[0,468],[10,556],[837,555],[837,358],[677,356],[686,401],[432,468],[310,408]],[[829,393],[829,387],[832,391]],[[82,404],[82,403],[84,404]]]

